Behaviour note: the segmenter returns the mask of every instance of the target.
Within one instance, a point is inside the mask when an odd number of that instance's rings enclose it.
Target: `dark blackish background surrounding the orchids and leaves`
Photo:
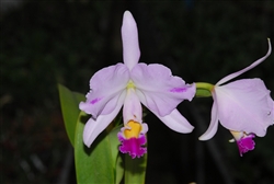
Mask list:
[[[13,1],[15,2],[15,1]],[[9,7],[7,7],[9,4]],[[11,4],[11,5],[10,5]],[[216,83],[274,45],[274,1],[1,1],[1,183],[76,183],[72,148],[57,83],[87,93],[91,76],[122,61],[121,25],[129,10],[138,25],[140,61],[168,66],[187,83]],[[14,3],[16,4],[16,3]],[[261,78],[274,90],[274,55],[238,77]],[[273,96],[273,94],[272,94]],[[272,184],[274,128],[242,158],[210,120],[212,99],[179,105],[196,127],[181,135],[152,114],[147,183]]]

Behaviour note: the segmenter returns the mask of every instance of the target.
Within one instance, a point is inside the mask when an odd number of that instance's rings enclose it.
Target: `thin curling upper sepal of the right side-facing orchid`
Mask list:
[[[256,67],[259,64],[261,64],[262,61],[264,61],[264,60],[271,55],[271,50],[272,50],[272,48],[271,48],[271,41],[270,41],[270,39],[267,39],[267,41],[269,41],[269,51],[266,53],[266,55],[265,55],[264,57],[258,59],[256,61],[254,61],[253,64],[251,64],[251,65],[248,66],[247,68],[244,68],[244,69],[242,69],[242,70],[240,70],[240,71],[233,72],[233,73],[231,73],[231,74],[229,74],[229,76],[222,78],[221,80],[219,80],[219,81],[216,83],[216,85],[220,85],[220,84],[222,84],[222,83],[225,83],[225,82],[227,82],[227,81],[229,81],[229,80],[231,80],[231,79],[233,79],[233,78],[236,78],[236,77],[238,77],[238,76],[244,73],[246,71],[248,71],[248,70],[250,70],[250,69]]]

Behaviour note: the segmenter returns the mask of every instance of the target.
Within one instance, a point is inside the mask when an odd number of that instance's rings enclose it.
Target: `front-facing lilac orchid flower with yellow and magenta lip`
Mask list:
[[[124,105],[124,127],[117,135],[122,143],[119,150],[132,158],[139,158],[147,152],[144,146],[148,131],[148,125],[142,122],[141,104],[172,130],[191,133],[193,126],[176,106],[183,100],[191,101],[196,88],[173,77],[170,69],[162,65],[138,64],[140,50],[137,25],[129,11],[124,13],[122,41],[124,64],[94,73],[87,101],[79,104],[81,111],[92,115],[84,126],[83,142],[90,147]]]

